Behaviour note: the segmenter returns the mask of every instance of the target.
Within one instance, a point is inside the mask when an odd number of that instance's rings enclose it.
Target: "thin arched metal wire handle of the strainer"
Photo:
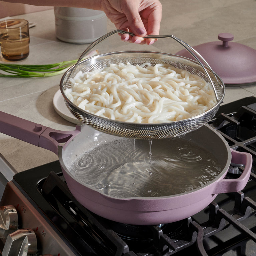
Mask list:
[[[96,41],[94,41],[92,44],[90,44],[86,50],[82,53],[82,55],[80,56],[80,58],[78,59],[78,61],[76,62],[74,68],[72,69],[72,72],[75,71],[77,65],[79,64],[79,62],[84,58],[84,56],[93,48],[95,47],[98,43],[100,43],[101,41],[103,41],[104,39],[106,39],[107,37],[113,35],[113,34],[116,34],[116,33],[121,33],[121,34],[129,34],[131,36],[134,36],[135,34],[131,33],[131,32],[127,32],[127,31],[124,31],[124,30],[120,30],[120,29],[117,29],[117,30],[114,30],[114,31],[111,31],[103,36],[101,36],[100,38],[98,38]],[[191,55],[193,55],[193,57],[197,60],[197,62],[200,64],[200,66],[203,68],[205,74],[207,75],[212,87],[213,87],[213,90],[214,90],[214,93],[215,93],[215,97],[216,97],[216,100],[219,101],[219,98],[218,98],[218,94],[217,94],[217,91],[215,89],[215,86],[213,84],[213,81],[209,75],[209,73],[207,72],[206,68],[204,67],[204,65],[201,63],[201,61],[199,60],[199,58],[201,58],[206,66],[209,68],[209,70],[212,72],[212,74],[214,75],[215,77],[215,80],[216,80],[216,83],[221,86],[219,83],[218,83],[218,79],[215,75],[215,73],[213,72],[212,68],[209,66],[209,64],[206,62],[206,60],[195,50],[193,49],[190,45],[188,45],[187,43],[185,43],[184,41],[180,40],[179,38],[173,36],[173,35],[146,35],[144,36],[143,38],[155,38],[155,39],[158,39],[158,38],[167,38],[167,37],[170,37],[170,38],[173,38],[175,41],[177,41],[178,43],[180,43],[181,45],[183,45],[183,47],[185,47]],[[198,57],[199,58],[198,58]],[[66,81],[65,81],[65,84],[67,83],[67,81],[69,80],[72,72],[69,73]],[[64,84],[64,85],[65,85]]]

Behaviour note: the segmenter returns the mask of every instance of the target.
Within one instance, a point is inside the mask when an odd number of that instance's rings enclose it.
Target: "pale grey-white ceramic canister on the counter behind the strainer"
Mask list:
[[[54,7],[56,37],[68,43],[92,43],[107,32],[103,11]]]

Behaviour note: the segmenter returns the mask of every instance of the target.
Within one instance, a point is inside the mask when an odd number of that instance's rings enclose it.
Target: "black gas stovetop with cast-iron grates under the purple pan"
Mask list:
[[[93,214],[68,190],[58,161],[18,173],[13,182],[74,255],[255,255],[256,106],[242,107],[254,103],[256,98],[248,97],[223,105],[209,123],[232,149],[252,154],[252,173],[245,189],[219,194],[203,211],[179,222],[135,226]]]

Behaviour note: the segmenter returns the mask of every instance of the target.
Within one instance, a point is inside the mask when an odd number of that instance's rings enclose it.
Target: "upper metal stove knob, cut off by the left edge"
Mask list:
[[[18,213],[14,206],[0,207],[0,238],[6,238],[8,234],[18,229]]]

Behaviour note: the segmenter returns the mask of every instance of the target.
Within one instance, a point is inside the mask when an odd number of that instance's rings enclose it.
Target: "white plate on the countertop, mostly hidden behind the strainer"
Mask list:
[[[55,111],[67,121],[74,124],[81,124],[81,121],[75,118],[68,110],[60,90],[58,90],[53,97],[53,107]]]

